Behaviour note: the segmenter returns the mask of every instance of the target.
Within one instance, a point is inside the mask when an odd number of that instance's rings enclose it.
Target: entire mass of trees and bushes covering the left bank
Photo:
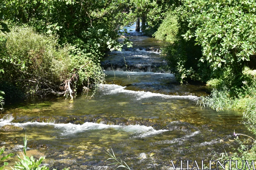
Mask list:
[[[103,83],[100,58],[121,50],[128,1],[0,2],[0,104],[48,94],[76,96]],[[93,4],[93,5],[88,5]],[[4,101],[5,100],[5,101]],[[3,111],[3,107],[1,108]]]

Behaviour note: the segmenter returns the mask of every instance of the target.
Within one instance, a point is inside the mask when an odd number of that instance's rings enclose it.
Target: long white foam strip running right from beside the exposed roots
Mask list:
[[[189,100],[198,100],[199,97],[197,96],[174,96],[174,95],[165,95],[165,94],[159,94],[159,93],[152,93],[152,92],[144,92],[144,91],[132,91],[132,90],[125,90],[124,88],[126,86],[120,86],[120,85],[100,85],[101,89],[105,94],[116,94],[116,93],[127,93],[127,94],[133,94],[136,96],[137,100],[143,99],[143,98],[149,98],[149,97],[162,97],[162,98],[175,98],[175,99],[189,99]]]

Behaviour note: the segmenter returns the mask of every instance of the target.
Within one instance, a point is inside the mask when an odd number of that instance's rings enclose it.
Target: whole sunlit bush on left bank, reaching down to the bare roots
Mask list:
[[[10,33],[0,33],[0,37],[0,81],[25,92],[27,97],[55,93],[74,74],[79,81],[72,84],[73,91],[105,80],[98,61],[98,55],[102,54],[95,49],[60,46],[58,36],[36,33],[28,26],[14,26]],[[77,73],[73,71],[75,68]],[[1,86],[0,90],[12,98],[7,86]]]

